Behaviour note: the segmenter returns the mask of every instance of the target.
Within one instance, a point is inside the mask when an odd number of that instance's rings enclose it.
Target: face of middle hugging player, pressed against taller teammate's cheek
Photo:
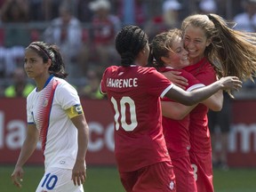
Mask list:
[[[188,52],[184,49],[180,36],[173,38],[171,49],[168,52],[168,57],[161,58],[165,66],[180,69],[189,65]]]

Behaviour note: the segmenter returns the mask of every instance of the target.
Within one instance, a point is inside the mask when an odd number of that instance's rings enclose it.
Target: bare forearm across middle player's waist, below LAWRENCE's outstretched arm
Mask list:
[[[174,120],[181,120],[185,116],[187,116],[190,111],[196,107],[193,106],[185,106],[178,102],[172,101],[161,101],[162,106],[162,115],[168,118],[172,118]]]

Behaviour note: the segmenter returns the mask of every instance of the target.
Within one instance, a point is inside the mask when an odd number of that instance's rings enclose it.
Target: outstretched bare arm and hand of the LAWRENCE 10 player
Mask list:
[[[196,89],[192,92],[186,92],[178,86],[173,86],[169,92],[166,92],[165,96],[171,100],[191,106],[206,100],[219,90],[237,90],[240,87],[242,87],[242,82],[236,76],[227,76],[222,77],[220,80],[208,86]]]

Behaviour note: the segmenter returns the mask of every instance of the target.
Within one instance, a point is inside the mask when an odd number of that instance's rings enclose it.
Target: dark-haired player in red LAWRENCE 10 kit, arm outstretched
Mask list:
[[[148,36],[125,26],[116,36],[121,66],[108,67],[100,91],[108,95],[115,114],[115,155],[121,182],[129,192],[176,191],[172,161],[164,141],[160,97],[193,105],[220,89],[236,89],[235,76],[186,92],[148,63]]]

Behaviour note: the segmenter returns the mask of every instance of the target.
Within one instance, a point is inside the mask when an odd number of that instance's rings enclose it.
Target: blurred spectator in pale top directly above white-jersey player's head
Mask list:
[[[79,73],[76,65],[78,51],[82,47],[82,27],[81,22],[73,14],[71,7],[65,1],[60,4],[59,16],[51,21],[51,24],[44,31],[44,41],[46,43],[57,44],[63,55],[69,78],[77,76]]]

